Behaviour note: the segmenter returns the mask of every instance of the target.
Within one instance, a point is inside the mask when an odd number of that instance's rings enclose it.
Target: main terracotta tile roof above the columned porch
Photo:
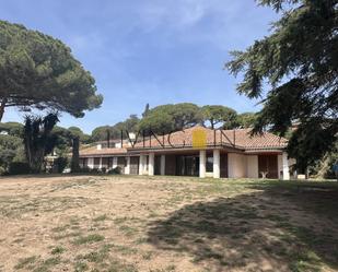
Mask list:
[[[232,146],[235,149],[283,149],[287,146],[287,139],[279,138],[272,133],[264,132],[260,135],[250,135],[250,129],[236,129],[236,130],[217,130],[215,132],[211,129],[196,126],[184,131],[173,132],[172,134],[158,137],[159,141],[165,146],[171,147],[172,145],[177,147],[191,146],[193,145],[193,133],[196,129],[202,130],[206,133],[207,146],[224,145]],[[144,141],[144,149],[163,147],[161,143],[152,137],[151,141],[149,138]],[[172,145],[171,145],[172,144]],[[143,142],[140,141],[135,144],[133,149],[143,149]],[[128,147],[128,150],[132,150]]]

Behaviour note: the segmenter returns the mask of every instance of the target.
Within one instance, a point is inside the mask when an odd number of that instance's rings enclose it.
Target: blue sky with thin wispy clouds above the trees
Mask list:
[[[229,51],[268,34],[277,14],[254,0],[0,0],[0,19],[61,39],[104,95],[84,118],[60,126],[85,132],[141,115],[147,103],[217,104],[238,113],[257,100],[236,93],[223,70]],[[22,121],[8,109],[3,121]]]

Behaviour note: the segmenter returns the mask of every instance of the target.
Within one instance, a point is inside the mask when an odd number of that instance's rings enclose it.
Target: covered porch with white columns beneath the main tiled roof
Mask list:
[[[289,164],[284,152],[161,151],[140,154],[139,175],[290,179]]]

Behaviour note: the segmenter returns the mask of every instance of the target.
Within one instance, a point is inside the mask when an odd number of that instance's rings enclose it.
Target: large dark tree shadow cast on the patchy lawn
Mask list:
[[[185,205],[149,225],[149,243],[209,270],[338,269],[338,190],[250,185],[235,198]]]

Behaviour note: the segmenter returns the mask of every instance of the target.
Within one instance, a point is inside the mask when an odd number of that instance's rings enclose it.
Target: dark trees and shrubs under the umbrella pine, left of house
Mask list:
[[[49,118],[51,119],[51,118]],[[59,157],[61,172],[68,159],[74,139],[91,143],[91,135],[78,127],[62,128],[45,118],[31,117],[25,126],[20,122],[0,123],[0,175],[38,173],[44,169],[44,157],[53,151]],[[47,129],[50,129],[47,133]],[[62,166],[61,166],[62,165]]]

